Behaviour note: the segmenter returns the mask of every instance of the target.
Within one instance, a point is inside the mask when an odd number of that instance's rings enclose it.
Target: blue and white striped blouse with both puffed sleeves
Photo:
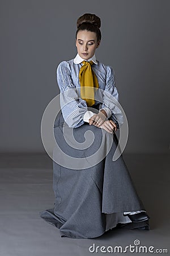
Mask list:
[[[62,115],[67,125],[73,128],[84,124],[83,116],[89,110],[86,101],[80,98],[79,70],[81,66],[81,63],[75,64],[72,59],[62,61],[57,68]],[[101,108],[109,108],[112,112],[111,119],[119,129],[124,120],[120,108],[116,105],[118,92],[113,69],[99,61],[92,65],[92,69],[99,82],[99,89],[95,92],[95,105],[101,104]]]

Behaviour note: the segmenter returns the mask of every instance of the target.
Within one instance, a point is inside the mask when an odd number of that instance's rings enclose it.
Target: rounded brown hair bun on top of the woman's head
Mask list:
[[[80,16],[76,22],[77,28],[82,25],[83,23],[91,23],[94,24],[96,27],[101,27],[101,20],[98,16],[95,14],[86,13],[82,16]]]

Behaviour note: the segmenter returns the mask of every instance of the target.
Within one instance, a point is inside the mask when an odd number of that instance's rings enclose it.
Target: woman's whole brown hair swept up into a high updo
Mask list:
[[[97,42],[101,40],[101,20],[95,14],[86,13],[80,16],[76,22],[77,31],[76,36],[80,30],[87,30],[91,32],[95,32],[97,36]]]

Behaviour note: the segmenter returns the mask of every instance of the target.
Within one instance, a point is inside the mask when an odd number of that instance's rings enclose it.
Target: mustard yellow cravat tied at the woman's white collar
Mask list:
[[[87,106],[95,104],[95,90],[99,88],[99,83],[95,72],[92,70],[91,65],[94,64],[91,60],[83,61],[83,65],[79,71],[80,81],[80,96],[83,100],[86,100]]]

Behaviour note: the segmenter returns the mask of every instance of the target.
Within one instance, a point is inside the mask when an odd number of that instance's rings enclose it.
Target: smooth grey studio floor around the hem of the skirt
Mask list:
[[[52,208],[54,204],[52,160],[49,156],[1,154],[0,255],[91,255],[88,248],[94,244],[94,254],[103,255],[101,246],[106,249],[108,246],[122,246],[124,249],[134,245],[135,240],[141,242],[140,246],[154,246],[153,251],[168,249],[166,255],[170,255],[169,155],[123,156],[151,217],[150,230],[113,229],[95,239],[78,240],[61,237],[57,228],[39,216],[41,210]],[[98,252],[96,246],[100,246]],[[132,254],[138,255],[129,251],[125,253]]]

